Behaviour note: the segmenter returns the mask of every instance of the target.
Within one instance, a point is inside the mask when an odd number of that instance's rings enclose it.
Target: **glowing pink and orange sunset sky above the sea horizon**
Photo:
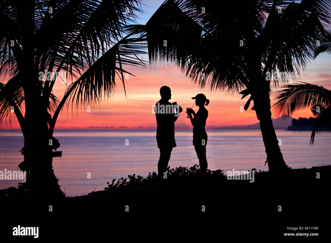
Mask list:
[[[331,55],[320,55],[313,61],[306,72],[302,72],[301,78],[297,81],[318,84],[324,88],[331,89],[331,72],[330,72]],[[240,106],[244,106],[248,97],[241,99],[239,94],[226,94],[225,92],[210,92],[208,88],[199,89],[198,85],[194,85],[191,80],[187,79],[180,70],[175,66],[159,66],[154,68],[140,68],[129,66],[127,71],[136,75],[136,78],[129,75],[125,85],[126,97],[124,95],[123,85],[117,78],[117,88],[114,96],[108,102],[102,101],[102,104],[94,107],[90,113],[86,110],[73,109],[71,116],[71,105],[69,110],[64,109],[62,115],[59,116],[55,129],[72,129],[72,128],[89,128],[111,127],[112,129],[121,129],[124,126],[126,129],[136,129],[139,126],[141,129],[148,127],[156,127],[155,114],[152,113],[152,105],[160,100],[160,87],[167,85],[171,88],[172,99],[170,102],[177,101],[184,109],[175,123],[176,129],[192,129],[190,120],[186,117],[185,108],[191,107],[194,100],[191,97],[199,93],[206,95],[210,100],[210,104],[206,106],[209,111],[206,128],[210,126],[232,126],[232,125],[250,125],[259,122],[256,118],[255,111],[250,108],[241,113]],[[53,92],[59,100],[62,99],[66,85],[57,81],[54,85]],[[271,100],[275,96],[276,89],[273,88]],[[67,106],[66,106],[67,107]],[[197,107],[193,106],[197,111]],[[68,111],[68,117],[67,117]],[[309,117],[311,112],[309,109],[295,112],[292,115],[294,118]],[[274,116],[272,116],[275,118]],[[100,127],[100,128],[99,128]],[[0,129],[9,129],[3,123]],[[20,129],[19,123],[15,121],[13,129]],[[150,128],[151,129],[151,128]]]

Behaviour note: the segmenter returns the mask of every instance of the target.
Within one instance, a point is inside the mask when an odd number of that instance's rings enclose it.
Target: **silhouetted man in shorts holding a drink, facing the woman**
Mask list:
[[[156,131],[156,140],[158,148],[160,148],[160,159],[158,163],[159,179],[163,178],[163,173],[168,168],[170,154],[173,147],[176,147],[175,142],[175,121],[178,118],[182,107],[176,107],[176,102],[170,103],[171,90],[168,86],[162,86],[160,89],[161,100],[155,104],[155,116],[158,124]],[[176,111],[174,111],[174,108]]]

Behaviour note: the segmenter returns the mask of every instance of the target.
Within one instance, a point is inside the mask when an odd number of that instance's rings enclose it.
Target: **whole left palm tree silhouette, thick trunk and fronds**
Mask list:
[[[147,48],[136,38],[122,37],[140,0],[1,1],[0,121],[16,116],[24,136],[28,191],[34,196],[62,196],[52,158],[62,155],[53,137],[66,101],[78,106],[100,103],[113,94],[115,75],[124,85],[123,65],[145,66],[138,56]],[[44,71],[54,75],[43,75]],[[66,75],[67,74],[67,75]],[[131,74],[131,73],[129,73]],[[132,74],[131,74],[132,75]],[[52,93],[67,76],[71,84],[62,100]],[[69,80],[68,78],[68,80]],[[60,80],[60,81],[59,81]],[[75,81],[74,81],[75,80]],[[67,84],[64,84],[67,85]]]

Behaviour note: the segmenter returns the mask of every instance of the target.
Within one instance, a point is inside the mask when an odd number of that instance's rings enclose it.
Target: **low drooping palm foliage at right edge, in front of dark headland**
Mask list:
[[[324,127],[331,131],[331,90],[322,86],[301,82],[288,84],[275,97],[275,111],[277,115],[292,115],[294,111],[310,107],[316,118],[311,132],[310,144],[314,143],[315,135]]]

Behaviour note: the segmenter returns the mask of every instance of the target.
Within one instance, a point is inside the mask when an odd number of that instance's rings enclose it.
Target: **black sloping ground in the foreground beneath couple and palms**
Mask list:
[[[1,197],[1,237],[28,241],[319,241],[330,232],[330,172],[331,166],[324,166],[285,174],[258,173],[253,183],[226,179],[167,182],[60,201]],[[38,226],[38,239],[13,236],[13,227],[18,225]]]

